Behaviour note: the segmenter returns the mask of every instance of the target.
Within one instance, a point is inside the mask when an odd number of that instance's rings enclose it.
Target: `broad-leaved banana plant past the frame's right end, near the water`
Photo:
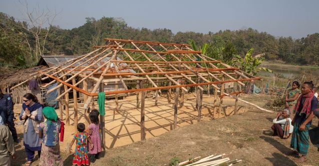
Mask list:
[[[258,67],[265,60],[263,57],[264,54],[258,54],[253,57],[253,50],[253,48],[250,48],[243,58],[239,55],[235,55],[235,58],[231,61],[232,65],[252,75],[256,75],[260,70],[272,73],[272,70],[268,68]]]

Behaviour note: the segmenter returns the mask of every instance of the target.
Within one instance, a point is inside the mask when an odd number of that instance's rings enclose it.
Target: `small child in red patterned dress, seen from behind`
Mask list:
[[[92,145],[91,139],[89,137],[89,134],[84,132],[85,125],[83,123],[79,123],[77,128],[79,133],[77,133],[74,136],[69,149],[71,152],[73,143],[77,141],[72,164],[78,165],[78,166],[90,165],[89,158],[88,158],[87,142],[89,141],[89,143],[91,144],[90,149],[92,149],[93,145]]]

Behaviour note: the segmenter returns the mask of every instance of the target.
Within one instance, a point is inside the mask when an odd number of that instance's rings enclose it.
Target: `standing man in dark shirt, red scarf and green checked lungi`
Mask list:
[[[312,91],[312,81],[304,82],[301,87],[301,96],[299,97],[294,111],[296,112],[291,124],[293,125],[293,132],[290,141],[290,148],[293,148],[293,154],[301,155],[296,160],[297,163],[307,161],[306,155],[309,149],[309,128],[313,111],[316,110],[318,101]]]

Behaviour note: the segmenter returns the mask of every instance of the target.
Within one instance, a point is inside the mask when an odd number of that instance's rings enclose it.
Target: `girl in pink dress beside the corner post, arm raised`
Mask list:
[[[92,141],[89,145],[92,146],[93,144],[93,149],[89,150],[89,159],[91,163],[94,163],[96,159],[99,159],[99,154],[101,152],[101,138],[99,134],[100,124],[99,115],[96,112],[90,112],[89,116],[91,121],[89,135]]]

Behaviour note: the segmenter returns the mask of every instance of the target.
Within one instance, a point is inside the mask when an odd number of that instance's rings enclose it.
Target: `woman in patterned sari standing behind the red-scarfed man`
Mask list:
[[[300,84],[298,81],[293,81],[291,89],[289,89],[289,93],[286,95],[286,108],[289,109],[290,115],[293,115],[293,109],[295,104],[297,103],[297,99],[301,94],[299,90]]]

